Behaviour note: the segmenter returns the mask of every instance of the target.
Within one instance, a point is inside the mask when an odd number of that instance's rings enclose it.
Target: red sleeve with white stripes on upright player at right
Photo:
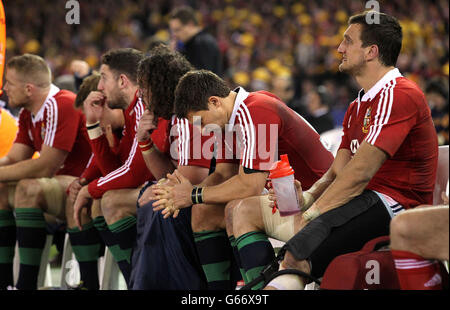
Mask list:
[[[390,88],[380,97],[365,141],[394,156],[417,122],[418,108],[402,90]]]

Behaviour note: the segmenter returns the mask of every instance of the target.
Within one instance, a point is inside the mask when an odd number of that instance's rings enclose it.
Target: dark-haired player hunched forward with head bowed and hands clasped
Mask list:
[[[175,95],[175,108],[179,117],[187,117],[192,122],[198,116],[203,126],[215,124],[222,130],[236,128],[235,141],[227,141],[226,132],[222,134],[224,146],[219,154],[222,151],[230,152],[226,148],[232,147],[234,156],[238,157],[237,145],[233,145],[233,142],[239,142],[242,156],[238,173],[229,180],[215,186],[195,188],[181,174],[176,173],[183,181],[173,188],[161,189],[158,192],[162,194],[161,198],[172,199],[175,208],[192,203],[217,204],[218,208],[223,208],[233,200],[256,196],[253,206],[256,211],[249,210],[249,213],[261,213],[267,227],[279,225],[272,221],[286,221],[286,230],[293,234],[294,217],[280,218],[278,213],[272,215],[267,195],[259,195],[264,190],[271,164],[278,160],[278,154],[289,156],[295,176],[305,188],[309,188],[327,171],[333,156],[321,143],[319,134],[273,94],[265,91],[248,93],[242,87],[231,91],[222,79],[210,71],[193,71],[183,76]],[[165,191],[169,194],[164,195]],[[162,199],[155,205],[164,204],[165,201]],[[163,212],[169,210],[166,208]],[[274,258],[273,248],[267,236],[260,231],[239,235],[237,242],[233,232],[228,233],[238,264],[239,257],[250,258],[241,261],[242,276],[249,281],[267,261]],[[273,234],[282,238],[275,232]]]

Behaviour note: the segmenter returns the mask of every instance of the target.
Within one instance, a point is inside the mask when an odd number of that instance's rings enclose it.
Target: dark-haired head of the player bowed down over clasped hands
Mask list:
[[[223,100],[230,95],[224,80],[208,70],[186,73],[175,90],[175,113],[193,122],[201,117],[202,125],[216,124],[224,127],[228,122]]]

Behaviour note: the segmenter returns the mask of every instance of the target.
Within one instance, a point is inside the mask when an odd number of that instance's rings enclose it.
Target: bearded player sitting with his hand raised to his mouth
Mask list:
[[[84,224],[85,229],[100,231],[127,284],[131,273],[131,250],[136,240],[136,200],[144,183],[154,180],[145,166],[135,137],[144,112],[144,105],[137,96],[137,67],[143,56],[142,52],[129,48],[110,50],[102,56],[99,92],[92,94],[96,100],[84,105],[90,143],[102,177],[83,186],[73,206],[78,229],[84,230]],[[125,130],[117,153],[109,147],[100,128],[101,114],[96,111],[102,105],[97,104],[98,101],[103,101],[111,109],[123,111]],[[155,143],[162,140],[159,137],[165,136],[164,128],[164,122],[160,122],[153,133]],[[92,199],[101,200],[101,215],[93,219],[93,225],[90,220],[89,223],[80,220],[82,209],[90,208]],[[91,241],[85,239],[83,242],[90,244]]]

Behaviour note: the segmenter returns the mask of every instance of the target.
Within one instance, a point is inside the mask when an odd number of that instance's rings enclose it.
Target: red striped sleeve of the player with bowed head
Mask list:
[[[277,160],[278,133],[281,119],[277,113],[263,107],[243,107],[236,116],[239,120],[238,152],[244,168],[267,171]]]

